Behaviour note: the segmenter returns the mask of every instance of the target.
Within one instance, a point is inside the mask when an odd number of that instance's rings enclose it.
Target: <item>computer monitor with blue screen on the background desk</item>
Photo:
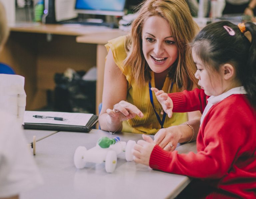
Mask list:
[[[76,0],[75,12],[78,14],[95,14],[123,16],[126,0]]]

